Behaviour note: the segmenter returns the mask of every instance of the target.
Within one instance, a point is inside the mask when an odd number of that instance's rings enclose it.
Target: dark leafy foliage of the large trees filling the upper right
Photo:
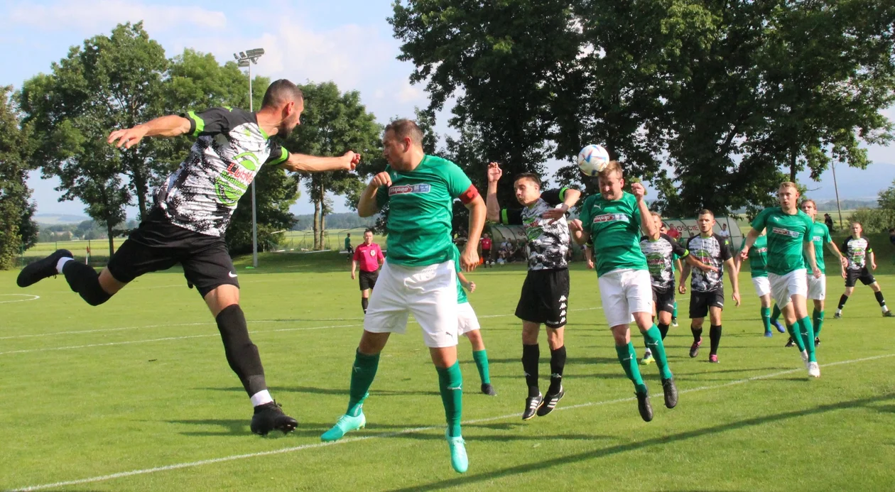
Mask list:
[[[860,144],[892,138],[891,2],[398,1],[389,22],[430,110],[456,96],[448,148],[473,169],[602,143],[670,214],[754,213],[787,175],[863,168]]]

